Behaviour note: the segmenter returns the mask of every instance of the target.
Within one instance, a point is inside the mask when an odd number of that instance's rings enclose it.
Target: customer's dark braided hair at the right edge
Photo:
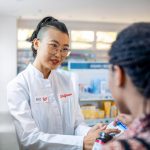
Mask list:
[[[129,75],[138,91],[150,98],[150,23],[135,23],[121,31],[109,51],[110,63]]]

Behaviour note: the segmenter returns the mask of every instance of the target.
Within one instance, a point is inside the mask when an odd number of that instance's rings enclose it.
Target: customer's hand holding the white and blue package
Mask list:
[[[118,120],[121,121],[126,126],[129,126],[133,121],[133,117],[127,114],[119,114],[114,121],[114,126],[116,126]]]

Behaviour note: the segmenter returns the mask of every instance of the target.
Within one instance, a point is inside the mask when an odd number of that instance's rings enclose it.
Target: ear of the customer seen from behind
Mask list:
[[[114,80],[116,86],[123,87],[125,85],[125,74],[121,67],[114,65]]]

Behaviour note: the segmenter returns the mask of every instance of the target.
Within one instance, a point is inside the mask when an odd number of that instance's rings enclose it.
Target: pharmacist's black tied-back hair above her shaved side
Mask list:
[[[55,19],[55,18],[53,18],[51,16],[43,18],[39,22],[39,24],[37,25],[36,29],[33,31],[31,37],[29,39],[27,39],[28,41],[32,42],[31,49],[33,51],[33,56],[34,57],[36,57],[36,55],[37,55],[37,50],[34,48],[33,40],[35,38],[39,37],[40,31],[42,29],[48,28],[50,26],[57,28],[58,30],[66,33],[69,36],[67,27],[66,27],[66,25],[64,23],[60,22],[59,20],[57,20],[57,19]]]

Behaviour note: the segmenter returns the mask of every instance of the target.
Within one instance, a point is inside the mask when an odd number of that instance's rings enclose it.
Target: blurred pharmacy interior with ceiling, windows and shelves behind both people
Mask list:
[[[69,29],[72,53],[60,68],[81,77],[79,102],[92,126],[108,123],[118,114],[108,89],[107,52],[121,29],[133,22],[150,22],[150,1],[0,0],[0,150],[18,150],[6,86],[33,62],[27,38],[45,16],[62,20]]]

